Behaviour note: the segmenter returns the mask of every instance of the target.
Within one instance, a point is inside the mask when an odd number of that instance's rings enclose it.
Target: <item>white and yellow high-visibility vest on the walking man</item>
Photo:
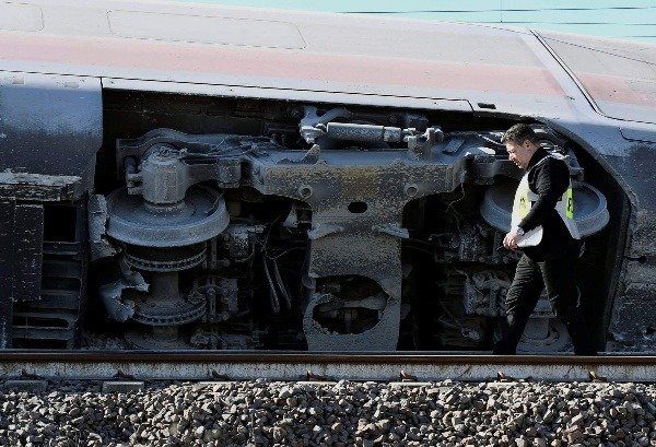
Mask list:
[[[539,199],[539,196],[532,192],[528,187],[528,173],[536,166],[546,163],[548,157],[559,160],[563,163],[565,162],[565,157],[563,155],[549,154],[536,163],[526,172],[526,174],[524,174],[524,177],[522,177],[519,186],[517,187],[517,191],[515,192],[515,200],[513,202],[513,214],[511,216],[511,224],[513,228],[519,225],[519,222],[526,217],[526,214],[528,214],[534,203]],[[555,203],[555,211],[565,223],[565,226],[567,227],[567,231],[572,237],[575,239],[581,239],[581,234],[578,233],[578,227],[576,226],[576,221],[574,220],[574,191],[572,189],[572,179],[570,179],[570,186],[565,192]],[[531,230],[530,232],[526,232],[524,236],[518,237],[517,246],[535,247],[536,245],[540,244],[540,240],[542,240],[542,225]]]

